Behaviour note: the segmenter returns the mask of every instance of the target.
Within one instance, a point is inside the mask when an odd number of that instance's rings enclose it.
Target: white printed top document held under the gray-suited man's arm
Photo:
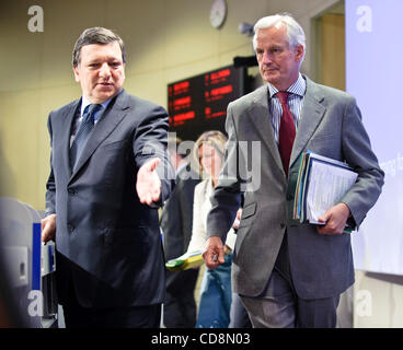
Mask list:
[[[327,209],[341,201],[355,184],[358,174],[336,164],[312,160],[307,189],[307,219],[313,224]]]

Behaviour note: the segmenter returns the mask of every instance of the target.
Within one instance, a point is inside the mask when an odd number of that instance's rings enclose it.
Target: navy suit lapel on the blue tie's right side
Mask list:
[[[71,174],[70,180],[76,176],[80,168],[87,163],[90,156],[99,148],[99,145],[111,135],[111,132],[118,126],[118,124],[126,116],[126,109],[130,106],[127,102],[127,94],[124,90],[111,101],[101,119],[96,122],[82,153],[76,170]]]

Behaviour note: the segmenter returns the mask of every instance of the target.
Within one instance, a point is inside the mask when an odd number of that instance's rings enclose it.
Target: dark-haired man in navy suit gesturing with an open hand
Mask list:
[[[125,62],[119,36],[85,30],[73,50],[82,97],[48,118],[43,241],[56,240],[67,327],[160,325],[165,272],[158,207],[174,186],[168,115],[124,91]]]

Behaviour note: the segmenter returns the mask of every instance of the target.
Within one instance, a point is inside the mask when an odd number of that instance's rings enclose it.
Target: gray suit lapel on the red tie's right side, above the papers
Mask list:
[[[307,78],[307,92],[303,101],[301,118],[298,124],[296,139],[293,141],[290,166],[299,159],[301,152],[306,149],[308,141],[312,138],[321,122],[326,107],[322,105],[323,95],[310,79]]]

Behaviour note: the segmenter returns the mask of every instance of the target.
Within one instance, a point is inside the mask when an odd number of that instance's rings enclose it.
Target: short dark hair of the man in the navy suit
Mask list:
[[[91,44],[110,44],[113,42],[119,43],[122,50],[122,60],[126,63],[126,50],[125,44],[120,36],[111,30],[103,28],[101,26],[95,26],[93,28],[87,28],[80,37],[77,39],[74,49],[72,51],[72,66],[77,67],[81,60],[81,48],[85,45]]]

